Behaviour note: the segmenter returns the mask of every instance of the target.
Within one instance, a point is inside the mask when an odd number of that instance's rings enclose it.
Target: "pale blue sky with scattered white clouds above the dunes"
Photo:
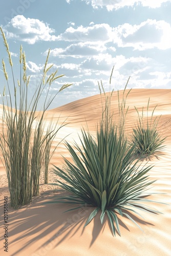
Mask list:
[[[6,34],[19,78],[19,48],[26,53],[29,93],[41,78],[48,49],[52,71],[64,77],[51,86],[58,94],[51,108],[99,93],[128,88],[171,89],[171,0],[8,0],[1,3]],[[0,38],[0,59],[8,63]],[[8,68],[7,68],[8,70]],[[9,73],[10,76],[10,73]],[[1,93],[5,78],[0,68]],[[46,90],[44,97],[46,96]],[[0,99],[1,100],[1,99]]]

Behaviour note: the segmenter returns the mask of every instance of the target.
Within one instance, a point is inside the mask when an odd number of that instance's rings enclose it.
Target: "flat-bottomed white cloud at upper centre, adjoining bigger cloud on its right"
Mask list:
[[[57,37],[58,40],[79,42],[112,41],[112,28],[109,24],[96,24],[91,27],[70,27]]]

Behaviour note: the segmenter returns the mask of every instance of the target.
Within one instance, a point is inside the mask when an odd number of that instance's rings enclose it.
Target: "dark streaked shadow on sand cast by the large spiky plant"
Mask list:
[[[93,207],[87,206],[82,207],[81,210],[75,209],[72,211],[72,214],[71,212],[70,214],[63,213],[68,209],[66,204],[54,203],[51,204],[51,206],[45,204],[46,201],[50,201],[54,197],[52,191],[49,191],[48,193],[49,194],[40,194],[40,196],[35,198],[28,206],[23,206],[18,210],[12,210],[10,212],[10,245],[12,247],[16,243],[20,244],[22,242],[23,244],[23,247],[19,245],[17,247],[19,249],[14,251],[12,255],[17,255],[17,253],[21,253],[23,249],[33,246],[35,239],[40,242],[40,246],[36,250],[39,250],[42,247],[46,248],[50,245],[53,245],[53,248],[55,248],[66,239],[71,239],[77,232],[82,236],[86,229],[88,230],[89,228],[92,228],[88,226],[83,228],[83,225],[89,217]],[[123,212],[128,213],[126,210],[123,210]],[[144,225],[154,226],[152,223],[144,221],[130,212],[129,215],[141,225],[142,229]],[[127,217],[123,218],[128,220]],[[119,225],[127,231],[130,231],[129,227],[124,224],[126,219],[123,218],[121,216],[118,217]],[[111,229],[107,216],[104,217],[104,222],[101,224],[100,212],[98,212],[96,218],[94,218],[92,222],[93,230],[91,231],[89,247],[94,244],[101,232],[106,232],[106,229],[104,228],[107,223]],[[131,223],[130,220],[129,223]],[[135,228],[137,227],[135,226]],[[108,231],[110,229],[108,229]],[[16,233],[20,233],[19,239],[18,237],[15,238]],[[117,230],[116,233],[117,236],[119,236]],[[44,242],[44,238],[48,238],[48,241],[46,240],[46,242]]]

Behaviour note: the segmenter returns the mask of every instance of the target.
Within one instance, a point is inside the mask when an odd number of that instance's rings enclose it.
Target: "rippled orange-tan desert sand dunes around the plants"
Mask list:
[[[158,104],[155,115],[162,115],[158,129],[161,135],[167,136],[167,138],[162,152],[150,158],[144,158],[142,164],[155,165],[149,172],[149,179],[156,180],[156,182],[149,187],[148,193],[157,193],[149,196],[149,199],[165,203],[151,203],[150,205],[161,211],[162,214],[154,215],[140,211],[144,219],[134,215],[134,220],[144,232],[126,217],[119,217],[121,236],[116,233],[116,237],[113,237],[107,219],[101,225],[100,214],[86,228],[83,228],[90,214],[90,208],[63,213],[69,209],[68,205],[62,203],[44,204],[55,200],[58,193],[57,187],[43,184],[43,176],[41,175],[39,196],[33,198],[31,204],[18,210],[9,207],[9,250],[7,253],[3,248],[3,199],[4,196],[9,197],[9,191],[5,169],[0,163],[1,255],[171,255],[171,90],[133,89],[127,98],[129,112],[127,113],[125,129],[127,133],[131,133],[138,118],[134,106],[141,111],[142,106],[147,106],[149,97],[151,98],[149,113]],[[118,117],[117,104],[117,92],[114,92],[112,110],[114,110],[116,119]],[[59,115],[59,123],[67,118],[68,125],[59,131],[54,146],[68,134],[70,134],[66,138],[68,142],[73,143],[75,140],[80,143],[78,134],[80,135],[82,126],[86,127],[86,121],[91,133],[95,134],[95,125],[101,116],[100,95],[77,100],[49,110],[45,119],[50,121],[53,118],[56,121]],[[62,156],[70,159],[63,142],[59,144],[51,163],[62,167]],[[55,175],[50,173],[49,182],[54,182],[54,179]]]

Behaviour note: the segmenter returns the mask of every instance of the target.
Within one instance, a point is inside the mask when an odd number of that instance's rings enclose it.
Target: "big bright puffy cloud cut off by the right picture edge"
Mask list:
[[[136,50],[171,47],[171,27],[164,20],[147,19],[140,25],[123,24],[113,29],[118,47],[134,47]]]

